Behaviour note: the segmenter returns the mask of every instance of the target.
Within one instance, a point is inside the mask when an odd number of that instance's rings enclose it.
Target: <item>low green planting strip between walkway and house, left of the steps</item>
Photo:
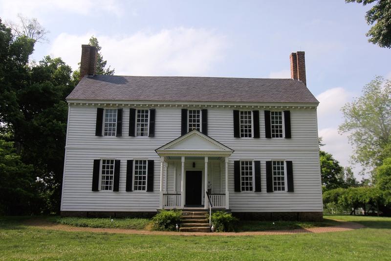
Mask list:
[[[151,222],[148,218],[88,218],[50,217],[50,221],[75,227],[145,229]],[[111,221],[112,220],[112,221]]]

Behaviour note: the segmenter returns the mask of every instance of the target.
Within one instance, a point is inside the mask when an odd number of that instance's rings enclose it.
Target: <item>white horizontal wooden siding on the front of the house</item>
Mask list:
[[[122,108],[122,107],[118,107]],[[129,108],[124,107],[122,137],[95,136],[96,107],[69,106],[62,211],[156,211],[159,208],[160,160],[155,149],[180,136],[180,108],[155,108],[155,137],[129,137]],[[291,139],[266,139],[260,110],[260,139],[234,138],[233,111],[208,108],[208,135],[235,150],[229,158],[229,203],[233,212],[322,211],[316,110],[291,111]],[[119,192],[91,191],[94,159],[121,160]],[[126,160],[150,159],[154,191],[126,192]],[[261,161],[261,192],[234,192],[234,160]],[[265,161],[291,160],[295,192],[266,193]],[[186,160],[186,168],[194,160]],[[176,161],[177,192],[181,188]],[[204,168],[203,161],[196,165]],[[221,167],[223,166],[223,167]],[[225,166],[210,161],[208,180],[214,193],[225,192]],[[174,161],[168,166],[168,192],[174,192]],[[165,181],[163,182],[165,185]],[[204,184],[204,183],[203,183]]]

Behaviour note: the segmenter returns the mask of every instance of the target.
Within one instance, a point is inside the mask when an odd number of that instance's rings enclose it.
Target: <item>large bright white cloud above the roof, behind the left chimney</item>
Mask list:
[[[77,68],[85,35],[60,34],[50,53]],[[195,28],[165,29],[157,33],[95,35],[102,55],[117,75],[203,75],[222,60],[225,39],[213,31]]]

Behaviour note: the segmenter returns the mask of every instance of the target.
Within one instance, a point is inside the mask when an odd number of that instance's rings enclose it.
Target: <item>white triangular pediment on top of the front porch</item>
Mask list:
[[[164,152],[200,152],[200,151],[209,151],[209,152],[220,152],[220,153],[232,153],[234,152],[231,148],[223,145],[220,142],[212,139],[209,136],[202,134],[197,130],[193,130],[174,141],[168,142],[167,144],[156,149],[158,154]]]

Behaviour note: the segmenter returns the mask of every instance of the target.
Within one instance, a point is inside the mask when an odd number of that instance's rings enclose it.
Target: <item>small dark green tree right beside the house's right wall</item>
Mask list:
[[[323,190],[332,190],[344,187],[344,179],[340,174],[343,173],[344,168],[330,153],[321,150],[319,152],[319,156]]]

